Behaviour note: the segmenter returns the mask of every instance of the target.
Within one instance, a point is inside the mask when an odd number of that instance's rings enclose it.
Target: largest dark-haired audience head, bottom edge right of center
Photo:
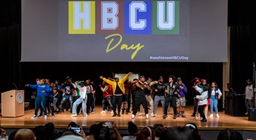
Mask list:
[[[160,140],[202,140],[189,127],[174,126],[161,135]]]

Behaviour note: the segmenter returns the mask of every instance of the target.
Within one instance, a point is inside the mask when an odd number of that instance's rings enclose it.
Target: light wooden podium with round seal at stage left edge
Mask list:
[[[9,90],[1,94],[3,117],[24,116],[24,90]]]

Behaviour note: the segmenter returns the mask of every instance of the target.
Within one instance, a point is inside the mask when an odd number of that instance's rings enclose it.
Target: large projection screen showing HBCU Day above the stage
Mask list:
[[[228,0],[22,0],[21,61],[227,62]]]

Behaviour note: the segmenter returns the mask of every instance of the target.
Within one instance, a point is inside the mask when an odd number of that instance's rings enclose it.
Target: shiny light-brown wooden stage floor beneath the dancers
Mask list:
[[[45,125],[48,122],[52,122],[55,124],[56,128],[67,128],[69,122],[73,121],[79,124],[84,128],[89,128],[96,121],[114,121],[117,123],[117,128],[119,129],[127,129],[127,125],[129,121],[134,122],[139,128],[143,126],[153,126],[154,124],[163,124],[165,127],[172,126],[184,126],[188,122],[193,122],[197,125],[198,129],[225,129],[225,128],[233,128],[233,129],[242,129],[242,130],[253,130],[256,131],[256,122],[249,121],[248,117],[233,117],[230,115],[225,115],[224,110],[219,112],[220,118],[217,117],[209,117],[210,109],[208,110],[207,115],[207,123],[201,123],[200,119],[190,117],[193,113],[193,107],[186,107],[186,118],[178,117],[175,120],[173,119],[173,115],[168,115],[166,119],[162,117],[161,107],[158,106],[156,111],[156,117],[149,117],[149,119],[145,118],[145,113],[143,111],[143,116],[139,116],[139,113],[136,114],[135,119],[132,119],[132,113],[128,113],[128,115],[121,114],[121,117],[112,117],[111,111],[107,113],[100,113],[102,110],[102,106],[96,106],[96,111],[88,115],[88,117],[84,117],[83,114],[78,115],[77,117],[70,117],[69,111],[65,111],[64,113],[55,114],[55,117],[51,117],[48,115],[48,118],[44,117],[39,118],[30,118],[34,115],[34,109],[25,110],[25,115],[21,117],[0,117],[0,123],[4,127],[9,128],[33,128],[38,125]],[[171,107],[171,113],[172,113]],[[149,110],[150,113],[150,110]]]

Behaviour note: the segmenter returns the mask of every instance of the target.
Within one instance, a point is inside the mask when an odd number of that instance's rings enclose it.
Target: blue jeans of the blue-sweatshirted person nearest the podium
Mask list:
[[[46,102],[47,102],[47,96],[37,96],[35,98],[35,115],[37,116],[39,106],[41,105],[45,115],[47,115],[46,112]]]

